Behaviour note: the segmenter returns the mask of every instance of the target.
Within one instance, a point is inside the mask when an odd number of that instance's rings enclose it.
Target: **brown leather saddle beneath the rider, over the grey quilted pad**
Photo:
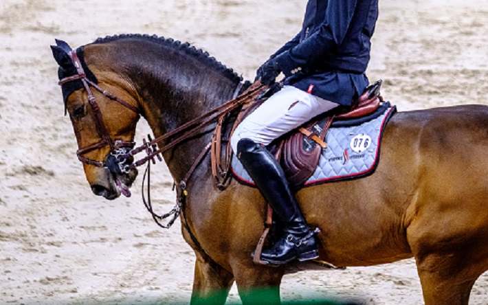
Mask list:
[[[298,128],[296,132],[287,133],[284,137],[276,139],[270,146],[270,151],[280,162],[287,179],[293,188],[300,188],[309,177],[315,171],[318,166],[322,149],[327,147],[324,142],[327,131],[331,124],[339,120],[353,120],[359,117],[364,117],[374,113],[379,109],[379,105],[382,102],[379,89],[381,88],[381,80],[377,80],[374,84],[368,86],[349,109],[337,107],[332,113],[324,113],[324,115],[318,115],[311,122],[304,124],[303,127]],[[247,115],[252,113],[260,104],[263,104],[267,100],[267,97],[262,98],[258,96],[254,102],[245,104],[240,113],[236,116],[235,123],[230,128],[230,131],[223,132],[222,126],[225,125],[223,117],[217,123],[217,128],[214,131],[214,141],[212,141],[212,172],[214,175],[217,187],[220,189],[225,188],[225,184],[228,183],[230,178],[230,159],[232,152],[230,146],[227,144],[226,148],[221,147],[221,138],[223,134],[227,134],[224,139],[230,139],[234,129],[239,123],[241,123]],[[316,128],[312,127],[324,122],[320,126],[320,133],[316,132]],[[303,138],[308,137],[313,140],[317,145],[314,145],[312,149],[304,149],[302,143]],[[222,144],[228,141],[222,141]],[[225,154],[225,156],[223,156]],[[223,160],[225,160],[223,162]]]

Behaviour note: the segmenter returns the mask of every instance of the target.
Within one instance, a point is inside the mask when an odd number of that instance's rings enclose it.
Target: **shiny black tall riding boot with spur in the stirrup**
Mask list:
[[[251,139],[237,143],[237,157],[284,225],[285,234],[270,249],[263,249],[261,260],[285,264],[318,258],[315,236],[289,188],[279,163],[262,144]]]

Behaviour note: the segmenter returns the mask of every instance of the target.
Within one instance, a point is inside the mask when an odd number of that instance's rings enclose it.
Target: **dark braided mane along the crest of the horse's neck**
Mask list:
[[[97,38],[96,41],[93,43],[109,43],[111,41],[118,41],[124,38],[137,38],[146,41],[152,41],[159,45],[164,45],[166,47],[170,47],[172,49],[177,50],[178,52],[188,54],[197,58],[199,61],[206,63],[209,67],[219,71],[223,76],[229,78],[234,82],[240,82],[243,80],[242,76],[236,74],[233,69],[230,69],[215,59],[213,56],[210,56],[208,52],[203,51],[203,49],[197,49],[196,47],[190,45],[190,43],[181,43],[181,41],[175,41],[172,38],[164,38],[163,36],[157,35],[148,35],[148,34],[121,34],[121,35],[113,35],[113,36],[105,36],[103,38]]]

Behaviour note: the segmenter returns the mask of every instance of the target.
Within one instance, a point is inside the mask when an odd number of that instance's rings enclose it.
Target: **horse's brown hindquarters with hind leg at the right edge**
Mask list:
[[[488,148],[488,111],[432,113],[419,134],[421,175],[407,237],[425,304],[465,305],[488,270],[488,161],[479,158]]]

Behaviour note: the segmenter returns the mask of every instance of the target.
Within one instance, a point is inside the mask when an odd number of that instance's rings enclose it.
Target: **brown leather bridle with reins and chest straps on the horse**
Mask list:
[[[137,148],[134,148],[135,142],[129,142],[129,141],[124,141],[122,139],[111,139],[109,131],[107,130],[107,126],[104,124],[104,120],[102,117],[102,113],[100,111],[100,107],[98,106],[96,102],[96,98],[94,97],[93,93],[91,92],[90,87],[93,87],[100,93],[102,93],[104,96],[109,98],[110,100],[114,100],[115,102],[118,102],[119,104],[122,104],[123,106],[126,106],[126,108],[131,109],[131,111],[134,111],[138,116],[140,115],[139,109],[137,107],[124,102],[120,98],[116,97],[115,95],[109,93],[107,90],[104,90],[100,88],[95,82],[89,80],[87,78],[87,74],[85,74],[85,71],[82,68],[82,64],[80,59],[78,58],[78,55],[76,54],[76,49],[72,50],[69,52],[69,56],[76,67],[76,71],[78,74],[74,76],[68,76],[66,78],[61,79],[58,84],[61,86],[67,82],[72,82],[75,80],[81,80],[83,83],[83,87],[85,87],[85,90],[87,91],[88,95],[88,101],[91,106],[91,109],[93,111],[93,115],[95,116],[95,124],[96,124],[96,129],[98,131],[98,134],[100,135],[100,141],[94,144],[90,144],[88,146],[85,146],[83,148],[80,148],[76,151],[76,155],[78,156],[78,160],[80,160],[82,163],[86,163],[92,166],[97,166],[99,168],[108,168],[113,174],[122,174],[122,173],[129,173],[131,170],[136,168],[137,166],[142,166],[144,163],[148,161],[152,161],[152,163],[155,163],[155,158],[159,159],[159,161],[162,161],[161,154],[164,153],[166,150],[169,150],[170,148],[173,148],[177,144],[184,142],[186,139],[190,137],[194,137],[199,133],[199,131],[210,124],[212,122],[219,121],[217,123],[217,128],[216,131],[214,132],[214,135],[212,136],[211,142],[203,148],[197,159],[195,159],[194,163],[192,164],[191,168],[188,170],[186,173],[184,179],[179,181],[177,184],[177,204],[171,210],[171,212],[164,214],[164,215],[158,215],[153,212],[153,207],[151,205],[151,191],[150,191],[150,164],[151,162],[148,162],[148,167],[146,168],[146,172],[144,173],[144,179],[142,182],[142,188],[143,188],[143,196],[142,199],[144,201],[144,205],[146,206],[146,209],[151,213],[153,216],[155,222],[157,225],[160,227],[168,228],[171,225],[173,225],[175,219],[179,215],[181,211],[181,207],[184,203],[185,197],[186,197],[186,182],[190,179],[192,172],[195,171],[197,166],[203,161],[205,156],[207,155],[208,151],[212,146],[218,147],[217,151],[219,152],[218,155],[220,156],[220,129],[222,125],[222,120],[223,117],[225,117],[230,111],[237,109],[239,106],[243,106],[245,104],[249,104],[252,101],[256,100],[256,96],[258,94],[263,94],[265,92],[265,89],[267,89],[267,86],[263,86],[260,84],[260,82],[255,82],[251,87],[249,87],[243,94],[239,95],[241,93],[241,89],[243,88],[243,83],[240,82],[238,86],[236,87],[234,91],[234,96],[232,100],[225,102],[221,106],[217,106],[216,108],[208,111],[208,113],[205,113],[201,115],[200,117],[195,118],[194,120],[191,120],[190,122],[186,122],[186,124],[183,124],[179,126],[178,128],[175,128],[173,131],[170,131],[166,133],[165,135],[161,135],[155,139],[151,139],[151,137],[148,135],[148,141],[146,139],[143,139],[143,144]],[[239,120],[238,120],[239,121]],[[218,135],[218,136],[217,136]],[[175,137],[175,139],[171,139],[166,145],[162,146],[161,148],[157,148],[158,142],[162,142],[164,140],[168,140],[170,137]],[[99,149],[103,148],[105,146],[110,147],[110,153],[107,155],[106,159],[104,161],[96,161],[93,159],[89,159],[85,157],[85,154]],[[215,158],[215,148],[212,150],[212,172],[215,172],[214,167],[219,166],[219,161],[213,161]],[[230,155],[232,152],[230,152],[230,148],[228,148],[228,157],[230,158]],[[135,161],[133,161],[133,156],[136,155],[137,153],[141,152],[146,153],[146,157]],[[218,160],[220,157],[218,158]],[[228,166],[230,166],[230,159],[228,159]],[[225,171],[225,176],[228,175],[229,170]],[[146,202],[146,199],[144,197],[144,180],[145,177],[148,177],[148,201]],[[223,189],[222,183],[217,179],[216,177],[217,174],[214,173],[214,178],[215,182],[217,183],[217,187],[219,189]],[[173,215],[172,219],[166,224],[162,225],[162,223],[159,222],[159,220],[163,220],[165,218],[168,218],[169,216]],[[184,217],[186,218],[186,217]],[[190,234],[191,238],[194,240],[194,242],[199,245],[198,241],[196,240],[195,236],[190,231],[190,228],[188,227],[188,224],[186,221],[184,222],[184,225],[186,229],[188,230],[188,233]],[[199,246],[201,248],[201,246]]]

